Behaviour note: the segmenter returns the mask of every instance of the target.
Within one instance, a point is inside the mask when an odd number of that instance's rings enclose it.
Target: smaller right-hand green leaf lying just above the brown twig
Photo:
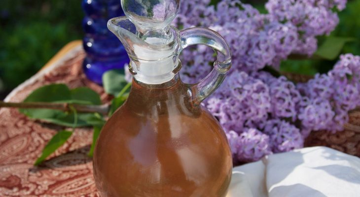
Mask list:
[[[72,100],[85,101],[87,104],[100,105],[101,99],[98,93],[91,90],[90,88],[80,87],[71,90]],[[83,104],[83,103],[78,103]]]

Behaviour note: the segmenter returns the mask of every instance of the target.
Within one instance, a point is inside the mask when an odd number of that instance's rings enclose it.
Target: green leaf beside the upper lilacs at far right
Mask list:
[[[315,52],[314,56],[326,60],[335,60],[339,56],[344,44],[354,40],[355,39],[351,37],[327,37],[324,43],[318,48],[318,51]]]

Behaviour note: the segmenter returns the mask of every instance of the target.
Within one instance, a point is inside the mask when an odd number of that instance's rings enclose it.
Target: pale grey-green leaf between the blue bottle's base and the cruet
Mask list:
[[[104,90],[110,95],[117,96],[126,84],[123,70],[113,69],[103,74]]]

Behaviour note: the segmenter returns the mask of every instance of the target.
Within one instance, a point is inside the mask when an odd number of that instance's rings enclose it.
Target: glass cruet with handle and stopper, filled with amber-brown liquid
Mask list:
[[[232,159],[225,133],[200,103],[231,67],[229,47],[206,28],[171,26],[179,0],[121,0],[126,17],[108,21],[133,74],[126,102],[98,138],[93,164],[102,197],[224,197]],[[205,44],[217,56],[197,84],[179,76],[180,52]]]

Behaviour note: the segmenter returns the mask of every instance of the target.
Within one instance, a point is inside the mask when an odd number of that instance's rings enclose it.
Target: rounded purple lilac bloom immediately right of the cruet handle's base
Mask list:
[[[219,91],[207,99],[205,105],[225,131],[238,133],[254,123],[258,125],[266,121],[271,107],[267,85],[238,71],[225,79]]]

